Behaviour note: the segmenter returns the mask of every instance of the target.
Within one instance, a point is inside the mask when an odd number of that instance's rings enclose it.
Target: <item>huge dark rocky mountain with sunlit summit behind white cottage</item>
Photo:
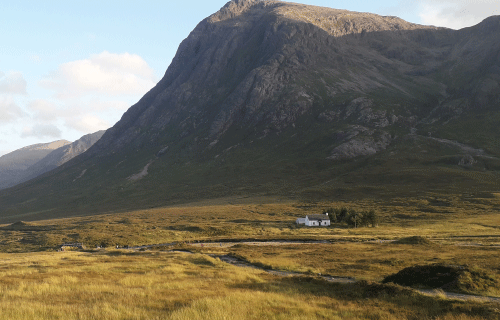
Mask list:
[[[1,192],[0,212],[498,190],[499,84],[498,16],[455,31],[233,0],[94,146]]]

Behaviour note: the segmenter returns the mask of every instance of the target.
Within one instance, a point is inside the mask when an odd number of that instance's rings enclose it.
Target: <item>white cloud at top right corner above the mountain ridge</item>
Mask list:
[[[461,29],[500,14],[498,0],[420,0],[419,17],[423,24]]]

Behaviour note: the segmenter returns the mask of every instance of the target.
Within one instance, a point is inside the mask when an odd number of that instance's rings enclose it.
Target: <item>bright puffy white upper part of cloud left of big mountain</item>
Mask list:
[[[89,93],[105,95],[145,94],[156,83],[154,71],[138,55],[104,51],[89,59],[59,66],[40,85],[65,98]]]

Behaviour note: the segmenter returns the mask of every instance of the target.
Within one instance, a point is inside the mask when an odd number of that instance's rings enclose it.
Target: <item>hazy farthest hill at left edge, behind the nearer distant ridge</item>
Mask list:
[[[30,166],[43,159],[52,151],[69,143],[66,140],[58,140],[50,143],[34,144],[1,156],[0,189],[15,185],[18,177]]]

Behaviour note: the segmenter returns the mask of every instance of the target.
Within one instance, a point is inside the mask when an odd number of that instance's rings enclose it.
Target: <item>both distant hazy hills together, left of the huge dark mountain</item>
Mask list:
[[[59,140],[36,144],[0,157],[0,189],[28,181],[68,162],[90,148],[104,132],[85,135],[73,143]]]

